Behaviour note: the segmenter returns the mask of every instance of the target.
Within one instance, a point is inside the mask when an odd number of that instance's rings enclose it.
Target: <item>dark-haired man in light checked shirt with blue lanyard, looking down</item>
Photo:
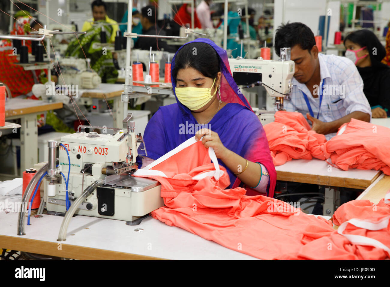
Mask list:
[[[371,120],[363,80],[351,60],[319,53],[312,30],[299,22],[278,27],[278,56],[282,47],[291,47],[291,60],[295,62],[293,93],[285,100],[286,111],[301,112],[312,130],[328,140],[351,118]]]

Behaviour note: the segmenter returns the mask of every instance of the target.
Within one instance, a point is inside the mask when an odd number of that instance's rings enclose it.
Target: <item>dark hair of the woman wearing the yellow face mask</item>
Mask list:
[[[212,79],[216,78],[220,71],[219,55],[212,46],[202,42],[184,45],[177,52],[174,61],[175,68],[172,70],[172,73],[175,82],[177,72],[184,68],[194,68],[205,77]]]

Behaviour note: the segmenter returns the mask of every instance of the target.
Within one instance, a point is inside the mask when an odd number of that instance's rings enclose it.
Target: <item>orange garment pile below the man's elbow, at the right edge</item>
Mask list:
[[[321,148],[325,157],[340,169],[380,169],[390,175],[390,149],[386,148],[389,143],[390,128],[351,119]]]

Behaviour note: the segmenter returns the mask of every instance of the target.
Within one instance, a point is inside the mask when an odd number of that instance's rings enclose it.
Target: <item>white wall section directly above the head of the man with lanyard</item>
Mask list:
[[[339,30],[340,1],[329,1],[328,8],[331,9],[332,13],[329,25],[329,44],[333,43],[335,32]],[[314,35],[317,35],[319,16],[326,14],[325,9],[326,0],[275,0],[274,31],[282,22],[301,22],[307,25]],[[276,53],[273,53],[273,57],[274,59],[278,58]]]

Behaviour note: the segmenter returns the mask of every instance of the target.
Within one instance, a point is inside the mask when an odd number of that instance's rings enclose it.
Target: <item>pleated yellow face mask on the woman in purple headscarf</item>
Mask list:
[[[215,79],[211,88],[214,86]],[[215,89],[214,94],[211,95],[211,88],[197,88],[197,87],[185,87],[185,88],[175,88],[175,93],[177,100],[183,105],[188,107],[191,111],[196,111],[204,107],[210,100],[213,98],[217,89]]]

